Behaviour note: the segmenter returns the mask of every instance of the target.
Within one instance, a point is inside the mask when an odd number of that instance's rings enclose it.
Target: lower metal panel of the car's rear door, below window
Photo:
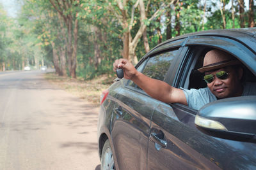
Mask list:
[[[147,169],[147,146],[152,109],[159,101],[124,88],[116,96],[111,137],[119,169]],[[122,102],[120,102],[122,101]],[[118,111],[122,112],[117,113]],[[136,145],[134,145],[136,143]]]

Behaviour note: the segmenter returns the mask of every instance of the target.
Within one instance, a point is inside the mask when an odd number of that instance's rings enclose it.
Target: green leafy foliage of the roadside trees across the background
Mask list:
[[[112,64],[115,59],[122,56],[122,49],[124,48],[122,36],[127,31],[116,17],[117,15],[122,15],[117,2],[117,0],[74,1],[72,8],[64,11],[64,15],[67,16],[71,12],[72,17],[77,17],[79,20],[77,76],[91,79],[100,74],[115,74],[112,71]],[[147,15],[150,17],[167,1],[144,1],[145,6],[148,2],[150,4],[148,4]],[[180,24],[180,34],[201,31],[203,26],[204,30],[223,29],[223,20],[218,6],[219,2],[207,1],[205,13],[204,2],[182,0],[165,9],[161,8],[163,13],[153,20],[147,18],[140,21],[140,10],[138,7],[134,8],[136,0],[127,1],[127,5],[124,8],[127,10],[128,23],[132,26],[131,37],[134,38],[140,29],[140,22],[147,25],[147,38],[150,48],[156,46],[160,40],[166,40],[167,24],[172,26],[172,37],[177,34],[178,30],[175,26],[178,24]],[[228,1],[225,1],[225,3],[228,4]],[[235,27],[238,28],[240,27],[239,11],[236,4],[234,6],[234,23]],[[132,8],[134,8],[133,23],[131,23]],[[166,15],[167,12],[171,14],[170,17]],[[179,21],[175,18],[178,12]],[[248,22],[247,13],[248,11],[246,11],[245,15],[246,22]],[[202,22],[204,14],[205,22]],[[225,17],[227,28],[232,28],[231,9],[226,8]],[[246,23],[246,25],[248,24]],[[95,28],[97,28],[97,31],[95,31]],[[42,58],[45,64],[51,67],[53,48],[51,43],[54,42],[56,47],[64,46],[65,44],[60,31],[60,20],[57,12],[48,0],[24,0],[22,11],[20,11],[20,15],[17,18],[8,17],[3,10],[3,6],[0,6],[0,69],[3,63],[6,69],[22,69],[22,64],[31,66],[36,66],[37,64],[38,66],[42,64]],[[99,63],[95,62],[96,45],[99,46]],[[136,56],[141,59],[143,55],[145,55],[145,48],[141,38],[136,46]],[[158,67],[152,67],[151,69],[151,71],[156,71],[157,74]]]

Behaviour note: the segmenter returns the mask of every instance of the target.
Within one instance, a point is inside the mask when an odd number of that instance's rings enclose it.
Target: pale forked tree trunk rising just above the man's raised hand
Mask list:
[[[141,36],[143,36],[143,32],[147,29],[147,25],[152,22],[152,20],[156,19],[159,15],[161,15],[166,8],[173,3],[170,2],[157,2],[160,3],[160,7],[156,9],[156,11],[149,16],[148,8],[151,4],[151,1],[148,1],[147,4],[144,3],[143,0],[138,0],[132,5],[129,5],[127,0],[124,1],[114,1],[113,3],[109,3],[109,10],[115,15],[119,24],[122,25],[122,41],[123,41],[123,52],[122,55],[125,59],[131,60],[133,64],[138,62],[138,58],[136,57],[136,46],[140,41]],[[137,10],[138,8],[138,10]],[[137,17],[136,12],[139,13],[139,17]],[[138,20],[136,20],[138,18]],[[134,28],[134,25],[137,23],[140,24],[138,31],[136,31],[135,35],[132,36],[131,32]]]

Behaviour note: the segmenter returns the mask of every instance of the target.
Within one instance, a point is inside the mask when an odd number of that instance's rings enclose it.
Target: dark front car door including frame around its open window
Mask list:
[[[202,40],[202,37],[196,39]],[[182,70],[172,71],[175,76],[171,83],[175,87],[188,85],[186,83],[189,80],[188,73],[193,69],[192,64],[195,64],[195,59],[192,57],[196,56],[196,50],[205,48],[205,45],[226,50],[239,58],[244,65],[249,66],[248,69],[255,70],[255,61],[248,62],[255,53],[233,39],[209,36],[199,43],[191,38],[188,45],[189,43],[198,45],[198,48],[191,46],[190,52],[187,53],[191,58],[187,56],[180,59],[179,68]],[[166,110],[170,110],[172,114]],[[182,104],[159,103],[154,110],[150,127],[148,169],[256,168],[254,143],[215,138],[204,134],[195,126],[196,113],[197,110]]]

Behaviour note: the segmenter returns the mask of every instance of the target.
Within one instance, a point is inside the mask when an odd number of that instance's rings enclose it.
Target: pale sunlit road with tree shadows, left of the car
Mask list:
[[[0,169],[100,169],[99,107],[44,80],[0,74]]]

